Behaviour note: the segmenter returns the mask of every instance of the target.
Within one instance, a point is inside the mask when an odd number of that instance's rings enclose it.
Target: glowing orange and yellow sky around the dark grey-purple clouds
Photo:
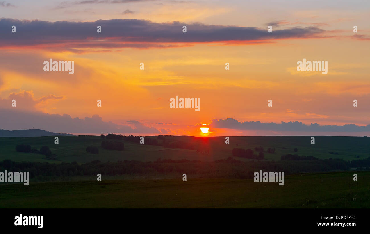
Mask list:
[[[370,124],[370,28],[369,15],[364,14],[366,9],[369,10],[369,4],[357,13],[349,10],[347,17],[340,16],[344,6],[332,11],[302,11],[297,6],[280,14],[265,12],[257,18],[252,17],[256,15],[255,11],[241,11],[236,6],[222,3],[201,10],[199,7],[204,3],[191,3],[186,5],[186,14],[177,7],[181,9],[185,5],[163,2],[164,5],[159,7],[146,3],[148,5],[142,10],[135,10],[140,9],[140,4],[122,6],[122,10],[111,16],[112,6],[101,4],[84,6],[90,9],[87,11],[99,9],[98,17],[85,14],[80,6],[54,10],[58,13],[54,18],[50,14],[52,10],[37,18],[28,13],[28,18],[24,18],[19,17],[14,9],[7,9],[5,17],[50,22],[63,19],[86,22],[145,19],[156,23],[178,20],[184,25],[201,22],[225,27],[256,27],[266,31],[268,23],[280,21],[280,26],[274,24],[273,33],[283,33],[292,27],[317,27],[323,31],[314,36],[270,40],[148,41],[146,48],[132,45],[99,47],[95,45],[97,41],[90,41],[91,46],[73,47],[76,50],[63,49],[71,46],[71,40],[76,40],[73,46],[77,46],[79,42],[75,38],[50,46],[47,40],[14,45],[7,37],[0,37],[5,41],[0,46],[1,108],[14,110],[10,101],[16,99],[17,110],[68,114],[71,118],[97,114],[102,121],[118,125],[135,128],[127,122],[134,120],[164,134],[195,136],[205,135],[197,124],[210,124],[213,118],[264,123]],[[258,3],[253,4],[257,9],[265,9]],[[54,5],[48,7],[59,6],[57,2]],[[151,14],[145,14],[150,6],[155,7]],[[19,6],[20,9],[23,8]],[[134,13],[118,12],[126,9],[132,9]],[[72,10],[82,13],[72,14]],[[241,21],[245,15],[250,15],[250,19]],[[77,16],[83,18],[78,19]],[[216,16],[224,16],[224,23]],[[353,33],[353,25],[359,26],[357,34]],[[3,28],[6,26],[0,26]],[[192,29],[188,27],[186,36],[191,33]],[[22,34],[19,29],[16,34],[27,38],[27,34]],[[106,42],[108,46],[114,43],[113,39],[104,38],[104,28],[101,37],[99,43]],[[74,74],[43,71],[43,61],[49,58],[73,60]],[[328,61],[328,74],[297,71],[296,63],[303,58]],[[144,63],[144,70],[139,69],[140,63]],[[230,64],[230,70],[225,70],[225,63]],[[169,108],[170,98],[176,96],[200,98],[201,110]],[[358,100],[358,107],[353,107],[354,99]],[[97,107],[97,100],[102,101],[102,107]],[[267,106],[268,100],[273,101],[272,107]],[[32,124],[30,121],[30,126]],[[7,129],[6,126],[0,127]],[[44,129],[42,124],[37,128]],[[228,128],[212,130],[207,135],[254,133]]]

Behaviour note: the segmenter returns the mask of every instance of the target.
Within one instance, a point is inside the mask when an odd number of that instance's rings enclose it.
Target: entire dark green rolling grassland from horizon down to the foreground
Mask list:
[[[230,144],[225,144],[225,137],[165,136],[168,142],[195,146],[193,150],[117,140],[124,142],[124,151],[102,148],[101,142],[107,139],[100,136],[58,137],[59,144],[54,144],[54,136],[0,138],[0,161],[8,160],[3,167],[24,167],[34,174],[27,186],[0,184],[1,208],[370,207],[368,166],[355,172],[353,168],[333,170],[333,163],[324,162],[329,158],[368,158],[369,137],[315,136],[315,144],[310,144],[310,136],[230,137]],[[48,146],[56,160],[16,152],[18,144],[37,149]],[[87,153],[87,146],[98,147],[99,154]],[[264,160],[232,157],[233,148],[254,150],[259,146],[264,148]],[[268,153],[269,147],[275,148],[275,153]],[[324,160],[280,160],[285,154]],[[15,165],[9,160],[33,164]],[[94,160],[100,162],[91,162]],[[254,183],[251,176],[260,169],[285,171],[285,184]],[[102,174],[102,181],[97,181],[97,173]],[[187,181],[182,180],[183,173],[187,173]],[[353,181],[354,173],[358,181]]]

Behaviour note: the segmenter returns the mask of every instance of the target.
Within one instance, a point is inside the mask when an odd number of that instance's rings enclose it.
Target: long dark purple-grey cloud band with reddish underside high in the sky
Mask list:
[[[17,27],[11,33],[11,26]],[[187,33],[182,26],[187,26]],[[97,33],[97,26],[102,33]],[[272,41],[278,39],[317,38],[324,30],[318,27],[294,27],[274,30],[256,27],[236,27],[206,25],[201,23],[185,24],[180,22],[154,23],[137,19],[97,20],[95,22],[40,21],[1,19],[1,47],[37,46],[38,49],[64,48],[145,48],[172,47],[178,43],[228,43]],[[161,46],[158,46],[158,45]]]

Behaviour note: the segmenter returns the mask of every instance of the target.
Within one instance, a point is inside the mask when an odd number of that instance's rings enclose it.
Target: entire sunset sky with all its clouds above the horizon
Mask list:
[[[0,0],[0,129],[370,135],[369,10],[369,1]],[[74,61],[74,73],[44,71],[50,59]],[[303,59],[327,61],[327,74],[297,71]],[[199,111],[170,108],[176,96],[200,98]]]

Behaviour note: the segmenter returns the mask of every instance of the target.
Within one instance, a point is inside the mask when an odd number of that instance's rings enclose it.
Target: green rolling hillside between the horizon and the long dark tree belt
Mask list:
[[[225,137],[209,137],[201,144],[209,154],[196,153],[196,150],[169,149],[161,146],[150,146],[124,141],[124,151],[105,150],[100,147],[102,139],[99,136],[58,136],[59,144],[54,144],[54,137],[1,137],[0,160],[37,161],[37,162],[73,162],[86,163],[93,160],[120,161],[140,160],[155,161],[158,158],[188,159],[214,161],[230,157],[233,148],[252,148],[262,146],[265,149],[265,159],[280,160],[283,154],[299,154],[300,156],[314,156],[317,158],[343,158],[344,160],[363,159],[370,156],[370,137],[336,137],[315,136],[315,144],[310,144],[311,136],[263,136],[263,137],[230,137],[230,144],[225,144]],[[156,136],[154,136],[156,138]],[[199,144],[201,138],[190,136],[166,136],[173,141],[194,142]],[[48,160],[41,154],[19,153],[15,151],[17,144],[30,144],[40,149],[48,146],[57,160]],[[237,145],[238,144],[238,145]],[[86,153],[87,146],[97,146],[99,154]],[[267,153],[267,148],[275,147],[275,154]],[[283,149],[285,147],[285,149]],[[298,152],[293,151],[298,148]],[[329,152],[337,152],[333,155]],[[359,158],[357,158],[359,157]],[[242,161],[248,159],[238,158]]]

